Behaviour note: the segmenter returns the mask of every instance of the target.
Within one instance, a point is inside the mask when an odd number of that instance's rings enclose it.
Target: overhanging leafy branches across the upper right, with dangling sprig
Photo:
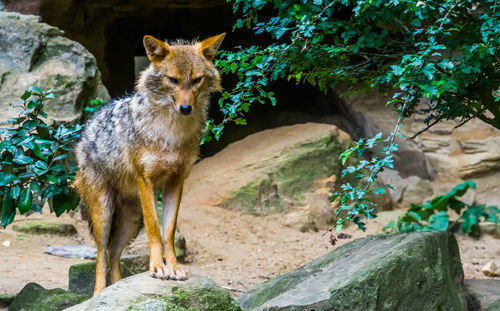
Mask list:
[[[375,140],[385,157],[362,161],[371,170],[361,176],[365,186],[344,184],[340,194],[347,217],[339,219],[337,229],[349,219],[364,229],[361,217],[374,216],[365,194],[378,173],[392,167],[390,154],[397,149],[394,137],[403,118],[425,114],[432,126],[477,117],[500,128],[499,6],[494,0],[234,0],[240,16],[234,28],[253,29],[271,43],[220,53],[220,71],[239,81],[222,94],[224,118],[207,123],[204,141],[218,139],[228,122],[245,124],[251,104],[274,105],[266,87],[277,79],[324,92],[340,84],[348,87],[346,96],[372,88],[391,94],[387,105],[400,114],[395,130],[386,139],[360,141],[354,150],[361,156]]]

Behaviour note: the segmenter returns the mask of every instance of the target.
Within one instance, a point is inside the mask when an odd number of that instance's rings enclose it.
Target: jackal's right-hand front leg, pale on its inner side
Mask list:
[[[175,227],[177,214],[182,196],[184,179],[174,177],[163,187],[163,251],[167,260],[169,278],[173,280],[186,280],[186,273],[177,265],[175,256]]]

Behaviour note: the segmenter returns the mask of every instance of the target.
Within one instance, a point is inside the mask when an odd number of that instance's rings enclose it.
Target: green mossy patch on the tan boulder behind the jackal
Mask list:
[[[306,205],[305,194],[314,191],[319,180],[340,176],[338,155],[348,146],[345,137],[330,127],[315,131],[317,136],[262,158],[257,166],[260,174],[232,190],[220,205],[261,216]]]

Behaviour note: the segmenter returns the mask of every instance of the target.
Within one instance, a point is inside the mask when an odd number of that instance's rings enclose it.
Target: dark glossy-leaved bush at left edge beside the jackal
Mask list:
[[[51,126],[45,123],[45,101],[55,98],[51,91],[31,87],[15,102],[23,109],[9,119],[10,128],[0,129],[1,225],[16,215],[41,212],[48,201],[57,216],[75,209],[78,199],[69,184],[76,166],[68,169],[65,160],[71,144],[80,137],[81,126]]]

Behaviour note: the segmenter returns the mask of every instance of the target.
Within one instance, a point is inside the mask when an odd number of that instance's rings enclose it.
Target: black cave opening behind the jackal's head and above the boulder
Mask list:
[[[142,45],[145,35],[159,39],[205,39],[226,32],[220,49],[236,46],[266,44],[270,38],[255,36],[253,31],[232,31],[236,21],[230,4],[221,0],[159,3],[156,1],[99,1],[80,2],[65,0],[55,14],[54,1],[41,6],[41,16],[49,24],[66,32],[73,40],[82,43],[96,56],[102,72],[103,83],[111,97],[121,97],[133,92],[137,73],[148,64]],[[225,90],[236,82],[233,76],[222,76]],[[229,124],[220,141],[202,146],[201,155],[209,156],[229,143],[249,134],[304,122],[333,123],[346,129],[342,105],[331,91],[323,94],[307,84],[276,81],[269,85],[277,98],[277,105],[253,104],[247,114],[247,125]],[[215,96],[217,97],[217,96]],[[214,98],[210,117],[222,118]]]

